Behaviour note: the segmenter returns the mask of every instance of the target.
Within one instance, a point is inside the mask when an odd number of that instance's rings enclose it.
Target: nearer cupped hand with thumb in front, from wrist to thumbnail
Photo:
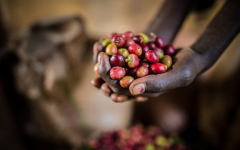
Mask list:
[[[180,49],[173,57],[172,67],[165,73],[138,78],[131,83],[129,91],[139,95],[188,86],[200,73],[201,61],[201,55],[191,48]]]

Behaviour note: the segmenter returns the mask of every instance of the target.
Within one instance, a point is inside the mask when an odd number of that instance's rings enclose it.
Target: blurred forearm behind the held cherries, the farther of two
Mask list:
[[[191,6],[191,0],[166,0],[146,33],[154,32],[165,43],[172,43]]]

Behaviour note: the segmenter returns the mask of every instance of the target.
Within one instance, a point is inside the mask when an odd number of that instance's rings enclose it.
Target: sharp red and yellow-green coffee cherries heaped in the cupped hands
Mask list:
[[[131,31],[112,33],[109,38],[95,43],[93,48],[110,56],[110,77],[120,80],[120,85],[128,88],[134,78],[164,73],[172,65],[173,46],[164,46],[160,37],[153,33],[151,36],[150,39],[144,33],[134,35]],[[98,65],[94,66],[96,74],[99,74]]]

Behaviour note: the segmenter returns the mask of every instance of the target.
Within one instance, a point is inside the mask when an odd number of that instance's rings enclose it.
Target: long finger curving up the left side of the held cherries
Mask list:
[[[109,87],[115,92],[115,93],[121,93],[125,95],[129,95],[130,92],[128,89],[123,89],[120,84],[118,83],[118,80],[113,80],[110,75],[110,69],[111,64],[109,62],[109,57],[106,53],[101,52],[99,54],[100,57],[100,64],[98,66],[98,71],[102,79],[109,85]]]

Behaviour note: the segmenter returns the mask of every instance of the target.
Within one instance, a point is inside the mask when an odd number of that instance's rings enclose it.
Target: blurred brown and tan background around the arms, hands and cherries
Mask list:
[[[224,0],[192,9],[174,47],[193,44]],[[90,81],[92,47],[144,31],[159,1],[0,1],[0,149],[78,149],[135,123],[177,133],[191,149],[240,149],[240,35],[190,86],[144,103],[114,103]]]

